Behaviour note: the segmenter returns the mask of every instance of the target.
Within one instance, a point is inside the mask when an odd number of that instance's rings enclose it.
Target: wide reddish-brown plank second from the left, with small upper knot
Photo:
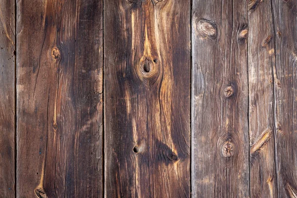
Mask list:
[[[17,13],[17,197],[101,197],[102,1]]]

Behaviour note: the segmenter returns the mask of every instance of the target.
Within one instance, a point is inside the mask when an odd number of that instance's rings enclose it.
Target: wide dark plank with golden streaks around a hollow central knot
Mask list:
[[[104,1],[105,197],[190,197],[190,0]]]

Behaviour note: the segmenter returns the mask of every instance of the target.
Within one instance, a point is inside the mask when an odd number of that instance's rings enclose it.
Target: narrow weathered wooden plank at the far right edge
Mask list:
[[[278,197],[297,197],[297,1],[272,0]]]

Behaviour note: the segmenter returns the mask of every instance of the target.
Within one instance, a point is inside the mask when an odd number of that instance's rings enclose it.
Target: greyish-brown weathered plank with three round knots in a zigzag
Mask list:
[[[247,2],[194,0],[192,195],[249,197]]]

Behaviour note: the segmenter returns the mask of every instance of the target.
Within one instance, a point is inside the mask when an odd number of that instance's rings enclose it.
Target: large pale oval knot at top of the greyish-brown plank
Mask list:
[[[214,21],[201,19],[197,23],[197,30],[203,38],[216,39],[217,30]]]

